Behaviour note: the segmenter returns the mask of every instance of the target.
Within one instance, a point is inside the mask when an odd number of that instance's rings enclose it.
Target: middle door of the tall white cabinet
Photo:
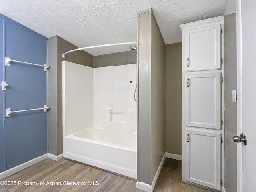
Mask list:
[[[220,73],[186,75],[186,126],[221,129]]]

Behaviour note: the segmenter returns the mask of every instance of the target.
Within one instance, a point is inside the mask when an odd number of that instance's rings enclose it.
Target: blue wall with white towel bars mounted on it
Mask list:
[[[46,64],[47,38],[0,14],[0,80],[8,83],[0,96],[0,172],[47,153],[46,113],[20,112],[5,118],[5,109],[25,110],[46,105],[46,72],[43,67],[13,60]],[[3,125],[3,126],[2,126]]]

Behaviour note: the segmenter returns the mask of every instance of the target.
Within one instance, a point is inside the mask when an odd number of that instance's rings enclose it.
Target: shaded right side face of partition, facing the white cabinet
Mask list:
[[[151,14],[151,182],[165,154],[165,44]]]

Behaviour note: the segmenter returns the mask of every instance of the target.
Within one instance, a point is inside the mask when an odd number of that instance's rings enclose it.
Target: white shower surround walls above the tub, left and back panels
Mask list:
[[[64,136],[90,127],[136,133],[135,88],[136,64],[91,68],[64,61]]]

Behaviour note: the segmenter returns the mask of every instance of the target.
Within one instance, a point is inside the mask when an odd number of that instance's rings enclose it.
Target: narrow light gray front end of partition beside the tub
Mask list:
[[[151,9],[150,9],[151,10]],[[151,184],[151,11],[138,13],[137,26],[137,180]]]

